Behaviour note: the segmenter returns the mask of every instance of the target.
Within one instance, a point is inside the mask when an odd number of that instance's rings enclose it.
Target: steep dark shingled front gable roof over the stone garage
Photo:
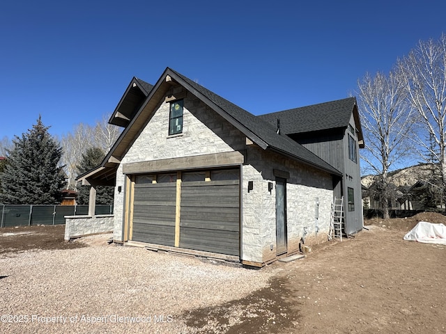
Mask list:
[[[109,177],[112,177],[113,173],[116,173],[116,168],[121,159],[142,131],[146,122],[148,122],[148,119],[150,119],[151,115],[155,112],[159,101],[164,99],[165,94],[170,88],[171,81],[176,81],[190,93],[198,97],[216,113],[222,116],[222,118],[245,134],[247,138],[263,148],[263,150],[278,152],[279,154],[286,155],[287,157],[291,157],[304,164],[325,170],[332,175],[342,175],[339,170],[304,148],[299,143],[293,141],[289,136],[277,134],[275,127],[270,125],[270,123],[254,116],[252,113],[245,111],[245,109],[236,106],[236,104],[229,102],[220,95],[211,92],[207,88],[197,84],[195,81],[192,81],[167,67],[157,83],[152,86],[151,90],[147,93],[144,102],[141,103],[139,109],[136,112],[133,112],[133,116],[125,121],[125,129],[102,161],[102,164],[100,164],[98,168],[95,168],[95,170],[84,173],[84,175],[79,175],[77,180],[86,180],[86,178],[91,177],[109,180]],[[121,115],[123,113],[126,113],[126,115],[132,114],[128,109],[125,109],[124,102],[131,100],[127,95],[132,94],[132,88],[138,87],[141,90],[141,88],[144,88],[142,86],[140,79],[132,79],[128,89],[125,91],[124,96],[116,107],[114,115],[112,115],[112,118],[110,119],[111,122],[112,120],[115,121],[112,122],[112,124],[116,124],[116,118],[120,116],[119,113],[121,113]],[[146,87],[148,88],[149,86]],[[130,106],[136,105],[137,104],[133,102]]]

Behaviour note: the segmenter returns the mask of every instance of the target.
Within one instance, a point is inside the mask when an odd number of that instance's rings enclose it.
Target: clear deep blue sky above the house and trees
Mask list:
[[[419,40],[446,1],[3,1],[0,139],[39,114],[61,136],[165,67],[259,115],[348,97]]]

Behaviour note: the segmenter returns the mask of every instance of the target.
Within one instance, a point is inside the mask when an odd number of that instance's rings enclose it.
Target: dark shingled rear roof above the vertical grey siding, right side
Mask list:
[[[362,136],[362,127],[355,97],[267,113],[258,117],[276,126],[277,120],[280,120],[280,132],[283,134],[303,134],[306,132],[346,128],[352,113],[355,119],[360,147],[363,147],[364,138]]]

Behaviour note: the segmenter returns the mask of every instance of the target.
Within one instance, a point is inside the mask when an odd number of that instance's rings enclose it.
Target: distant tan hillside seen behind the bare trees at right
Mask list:
[[[395,186],[413,186],[418,180],[429,179],[432,174],[432,164],[420,164],[389,173]],[[374,182],[375,175],[362,177],[361,184],[369,187]]]

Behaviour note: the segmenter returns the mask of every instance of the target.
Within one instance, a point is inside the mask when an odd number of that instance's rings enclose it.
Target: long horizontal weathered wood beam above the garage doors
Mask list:
[[[245,156],[243,152],[239,151],[203,154],[194,157],[160,159],[123,164],[123,173],[157,173],[171,170],[236,166],[243,164],[244,161]]]

